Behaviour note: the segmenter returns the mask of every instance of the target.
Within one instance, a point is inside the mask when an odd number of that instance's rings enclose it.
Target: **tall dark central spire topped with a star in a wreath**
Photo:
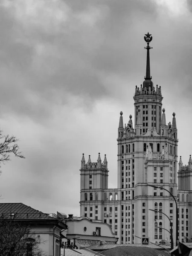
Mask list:
[[[151,74],[150,74],[150,56],[149,56],[149,50],[152,49],[153,47],[149,46],[149,43],[152,41],[153,37],[151,36],[151,34],[149,34],[149,32],[147,34],[145,34],[144,36],[144,40],[147,43],[147,47],[144,47],[147,50],[147,62],[146,62],[146,76],[145,81],[143,82],[143,88],[149,88],[151,87],[151,89],[153,88],[153,82],[151,81]]]

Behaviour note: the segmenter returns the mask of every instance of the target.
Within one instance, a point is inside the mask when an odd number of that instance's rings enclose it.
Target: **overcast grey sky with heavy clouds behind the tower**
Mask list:
[[[80,214],[81,157],[107,155],[117,187],[119,113],[134,119],[146,43],[178,156],[192,154],[192,0],[1,0],[0,128],[25,159],[1,166],[2,203]]]

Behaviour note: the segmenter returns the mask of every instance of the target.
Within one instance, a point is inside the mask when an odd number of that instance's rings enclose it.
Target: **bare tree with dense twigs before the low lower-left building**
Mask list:
[[[0,219],[0,256],[43,256],[41,243],[44,241],[22,221]]]

